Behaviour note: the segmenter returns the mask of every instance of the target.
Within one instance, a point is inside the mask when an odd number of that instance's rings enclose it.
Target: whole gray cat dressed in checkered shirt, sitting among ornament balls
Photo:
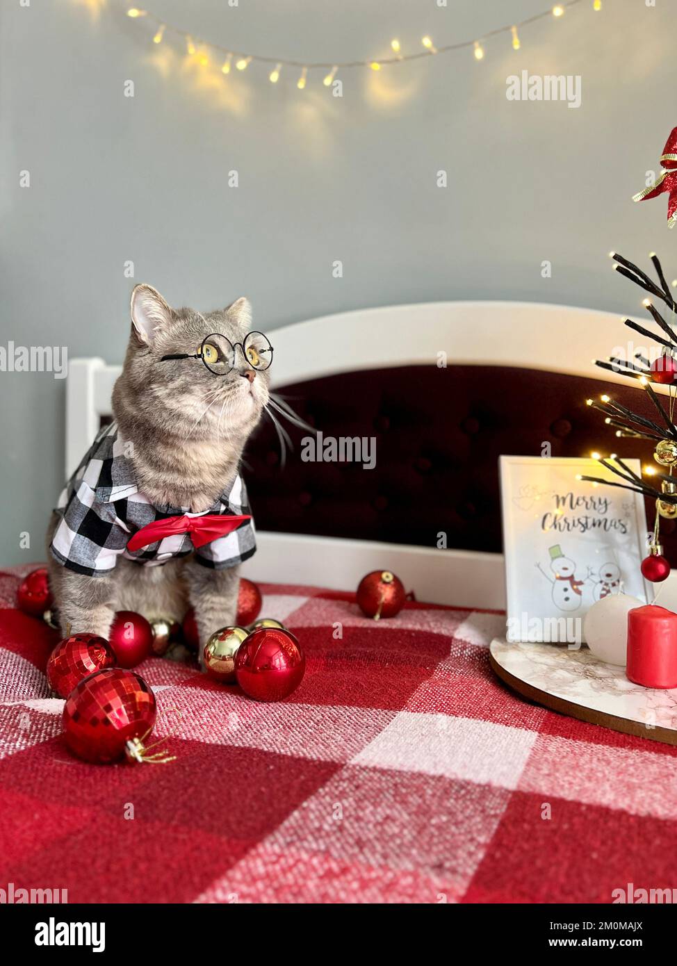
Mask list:
[[[50,589],[64,637],[107,639],[116,611],[181,621],[192,607],[202,650],[212,632],[236,622],[239,564],[255,549],[251,523],[201,550],[187,535],[136,554],[126,543],[138,514],[147,515],[143,521],[186,512],[248,515],[240,458],[269,398],[265,356],[248,348],[261,333],[247,339],[246,298],[201,315],[170,308],[150,285],[137,285],[130,309],[113,422],[71,477],[47,529]],[[235,347],[228,363],[215,365],[224,375],[203,364],[227,346],[205,343],[212,333]],[[271,349],[261,339],[269,366]],[[177,546],[179,555],[158,554]]]

